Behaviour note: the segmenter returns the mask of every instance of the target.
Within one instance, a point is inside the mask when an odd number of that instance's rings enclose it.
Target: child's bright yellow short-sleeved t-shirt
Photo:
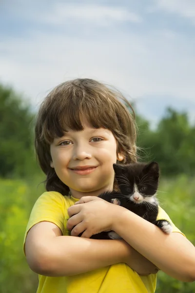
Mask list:
[[[76,201],[78,199],[72,196],[62,196],[56,191],[44,192],[31,211],[24,236],[24,245],[28,231],[41,221],[56,224],[62,231],[62,235],[68,235],[66,229],[66,223],[69,219],[67,209]],[[181,233],[160,207],[157,219],[169,220],[173,225],[173,231]],[[39,275],[37,293],[154,293],[155,289],[156,274],[139,276],[125,263],[119,263],[74,276],[48,277]]]

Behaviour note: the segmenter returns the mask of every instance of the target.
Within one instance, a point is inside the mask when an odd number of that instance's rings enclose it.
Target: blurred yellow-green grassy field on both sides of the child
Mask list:
[[[31,272],[22,251],[30,211],[43,191],[41,178],[0,180],[0,292],[35,293],[38,276]],[[160,205],[195,245],[195,178],[162,179]],[[158,272],[156,293],[194,293],[194,283],[179,282]]]

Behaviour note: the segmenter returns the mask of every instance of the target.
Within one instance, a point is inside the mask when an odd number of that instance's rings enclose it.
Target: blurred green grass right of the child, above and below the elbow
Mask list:
[[[162,179],[158,198],[177,228],[195,245],[195,178],[179,175]],[[162,191],[162,192],[160,192]],[[184,264],[185,265],[185,264]],[[158,272],[156,293],[194,293],[195,283],[184,283]]]

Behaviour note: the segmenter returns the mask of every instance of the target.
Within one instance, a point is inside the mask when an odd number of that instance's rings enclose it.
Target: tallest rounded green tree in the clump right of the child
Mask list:
[[[187,151],[190,145],[190,131],[187,113],[178,113],[168,108],[157,127],[156,144],[153,148],[164,175],[188,172],[190,156]]]

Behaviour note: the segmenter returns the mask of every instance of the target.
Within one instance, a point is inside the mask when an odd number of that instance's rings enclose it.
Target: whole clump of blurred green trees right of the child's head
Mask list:
[[[140,122],[137,146],[143,160],[158,162],[163,176],[180,173],[195,175],[195,126],[191,126],[186,113],[168,108],[155,130],[147,121]]]

